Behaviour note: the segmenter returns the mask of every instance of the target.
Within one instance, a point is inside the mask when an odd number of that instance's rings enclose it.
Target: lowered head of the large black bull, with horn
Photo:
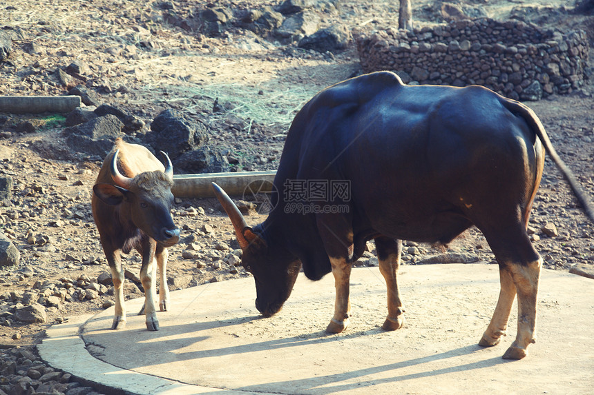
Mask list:
[[[242,265],[256,280],[256,308],[262,315],[271,316],[289,298],[301,263],[280,243],[269,243],[271,237],[263,224],[249,227],[227,193],[215,183],[212,186],[233,223],[243,252]]]

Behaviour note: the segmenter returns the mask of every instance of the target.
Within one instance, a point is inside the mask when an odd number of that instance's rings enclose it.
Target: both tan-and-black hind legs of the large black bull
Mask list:
[[[514,237],[515,236],[515,237]],[[493,318],[479,345],[495,345],[505,333],[515,294],[518,299],[518,324],[515,341],[505,352],[505,359],[521,359],[530,343],[535,343],[538,281],[542,259],[528,239],[523,227],[506,230],[497,238],[487,236],[497,261],[501,292]]]

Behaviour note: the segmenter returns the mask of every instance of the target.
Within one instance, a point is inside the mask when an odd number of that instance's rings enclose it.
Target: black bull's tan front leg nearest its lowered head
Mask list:
[[[349,283],[351,276],[351,264],[345,258],[330,257],[332,275],[334,275],[334,286],[336,287],[336,302],[334,303],[334,316],[330,321],[326,332],[340,333],[349,326],[351,314],[351,302],[349,300]]]

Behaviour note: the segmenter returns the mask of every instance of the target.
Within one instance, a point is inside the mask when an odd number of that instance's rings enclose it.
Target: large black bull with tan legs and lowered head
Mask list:
[[[280,310],[300,267],[312,280],[332,271],[336,304],[328,332],[348,325],[351,264],[365,241],[375,240],[387,284],[383,328],[396,330],[404,322],[396,283],[401,240],[448,243],[476,225],[501,279],[479,344],[499,343],[517,294],[517,337],[504,358],[519,359],[535,341],[542,258],[526,227],[545,148],[594,221],[586,195],[525,105],[479,86],[408,86],[377,72],[323,90],[296,115],[274,180],[282,193],[263,223],[248,227],[229,196],[213,188],[256,280],[262,314]],[[349,190],[334,193],[332,185],[344,182]]]

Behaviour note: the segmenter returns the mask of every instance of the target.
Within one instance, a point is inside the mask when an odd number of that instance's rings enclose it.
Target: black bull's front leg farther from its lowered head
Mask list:
[[[402,241],[387,237],[375,239],[379,271],[385,279],[387,287],[387,318],[382,325],[383,330],[397,330],[404,325],[404,307],[398,291],[398,267],[402,252]]]

